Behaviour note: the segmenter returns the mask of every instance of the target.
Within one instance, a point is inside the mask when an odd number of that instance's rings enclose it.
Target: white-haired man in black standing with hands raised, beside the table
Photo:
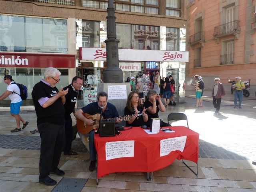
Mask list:
[[[68,89],[56,88],[60,81],[60,71],[56,68],[46,68],[44,79],[35,84],[32,98],[36,110],[37,127],[41,138],[39,160],[39,182],[45,185],[55,185],[57,182],[49,174],[64,175],[58,168],[60,155],[64,145],[65,95]]]

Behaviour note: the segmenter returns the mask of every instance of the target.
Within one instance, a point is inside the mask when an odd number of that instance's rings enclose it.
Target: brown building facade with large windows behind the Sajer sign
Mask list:
[[[184,0],[115,0],[114,3],[119,49],[167,50],[174,54],[185,51]],[[93,88],[103,80],[106,63],[81,60],[79,48],[106,46],[107,7],[107,0],[0,1],[0,55],[8,59],[0,63],[0,76],[11,74],[16,82],[31,88],[30,96],[44,69],[54,66],[62,72],[63,81],[58,86],[66,86],[77,74],[87,83],[90,77]],[[32,59],[32,66],[8,63],[12,57],[22,58],[23,54],[41,56],[42,62],[36,65],[37,60]],[[49,56],[74,56],[74,65],[61,60],[56,65],[56,60],[46,59]],[[150,74],[153,80],[156,71],[161,76],[172,74],[178,81],[185,79],[185,62],[122,61],[120,66],[124,69],[124,80],[142,73]],[[0,82],[0,94],[5,89],[6,85]]]

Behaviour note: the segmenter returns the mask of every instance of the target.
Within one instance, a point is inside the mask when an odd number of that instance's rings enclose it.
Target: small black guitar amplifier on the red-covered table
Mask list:
[[[116,121],[100,120],[100,137],[116,136]]]

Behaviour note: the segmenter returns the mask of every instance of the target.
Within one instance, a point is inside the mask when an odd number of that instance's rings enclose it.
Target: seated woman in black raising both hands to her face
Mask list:
[[[149,90],[147,98],[148,100],[144,102],[144,107],[147,109],[148,112],[148,121],[146,122],[146,126],[150,127],[151,118],[159,118],[158,112],[164,112],[165,107],[161,101],[160,95],[158,95],[158,92],[156,92],[155,90]],[[160,126],[166,127],[170,125],[161,121]]]

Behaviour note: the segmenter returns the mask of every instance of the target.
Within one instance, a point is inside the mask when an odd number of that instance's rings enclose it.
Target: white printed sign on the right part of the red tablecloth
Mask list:
[[[168,155],[172,151],[183,152],[187,136],[163,139],[160,141],[160,157]]]

